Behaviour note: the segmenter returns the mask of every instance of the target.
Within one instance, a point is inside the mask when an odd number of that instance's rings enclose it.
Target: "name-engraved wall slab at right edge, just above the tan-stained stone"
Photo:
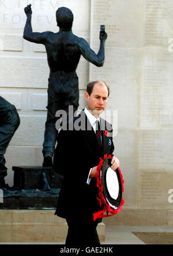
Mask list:
[[[172,173],[172,130],[141,130],[139,169]]]

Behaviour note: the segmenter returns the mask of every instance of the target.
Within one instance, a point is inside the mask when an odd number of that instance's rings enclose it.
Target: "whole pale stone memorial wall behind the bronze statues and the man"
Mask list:
[[[107,109],[118,113],[114,143],[125,180],[123,209],[167,210],[165,213],[171,216],[173,2],[0,1],[0,94],[16,105],[21,118],[6,152],[6,181],[10,185],[12,165],[42,164],[48,65],[44,47],[22,39],[28,3],[32,4],[33,31],[40,32],[57,31],[55,11],[61,6],[70,8],[74,34],[85,38],[95,52],[99,50],[100,25],[106,25],[104,66],[95,67],[81,57],[77,68],[79,109],[85,107],[88,81],[100,78],[108,82],[111,92]],[[111,114],[111,122],[116,123],[116,116]]]

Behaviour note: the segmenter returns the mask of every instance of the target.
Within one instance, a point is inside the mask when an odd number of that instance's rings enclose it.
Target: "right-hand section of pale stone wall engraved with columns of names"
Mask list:
[[[125,209],[173,209],[172,11],[171,1],[91,1],[91,46],[100,23],[110,36],[106,63],[91,65],[89,79],[109,83],[108,107],[118,110]]]

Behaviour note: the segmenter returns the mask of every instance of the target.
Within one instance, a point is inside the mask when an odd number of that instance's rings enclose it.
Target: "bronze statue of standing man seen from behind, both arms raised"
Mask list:
[[[97,67],[103,66],[104,44],[107,34],[104,31],[100,31],[100,49],[96,54],[84,38],[73,34],[73,13],[70,9],[61,7],[57,10],[57,25],[59,27],[59,32],[57,33],[51,31],[32,32],[31,5],[28,5],[24,10],[27,14],[24,39],[34,43],[42,43],[46,47],[47,61],[50,67],[47,120],[43,142],[43,166],[52,166],[52,156],[58,134],[55,128],[58,118],[55,117],[55,113],[60,109],[64,109],[69,115],[69,105],[73,105],[73,112],[77,110],[79,90],[76,68],[80,57],[82,55]]]

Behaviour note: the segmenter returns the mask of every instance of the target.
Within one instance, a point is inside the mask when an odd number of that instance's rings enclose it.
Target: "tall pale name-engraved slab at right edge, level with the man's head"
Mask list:
[[[141,79],[140,128],[165,129],[173,125],[172,61],[168,50],[144,52]]]

